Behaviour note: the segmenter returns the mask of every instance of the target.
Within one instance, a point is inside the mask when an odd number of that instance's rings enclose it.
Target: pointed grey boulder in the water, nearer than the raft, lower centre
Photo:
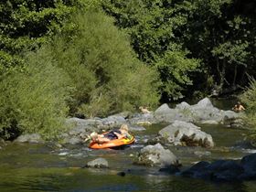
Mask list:
[[[170,150],[165,149],[161,144],[147,145],[138,155],[137,161],[139,165],[161,166],[179,165],[176,155]]]

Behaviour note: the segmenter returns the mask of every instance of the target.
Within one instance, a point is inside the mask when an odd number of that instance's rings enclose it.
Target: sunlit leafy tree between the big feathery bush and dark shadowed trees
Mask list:
[[[116,0],[104,1],[103,8],[115,17],[116,25],[131,36],[138,58],[158,69],[164,101],[186,94],[187,85],[193,84],[192,77],[199,66],[199,60],[191,59],[179,38],[181,28],[187,24],[189,11],[193,9],[192,3]]]

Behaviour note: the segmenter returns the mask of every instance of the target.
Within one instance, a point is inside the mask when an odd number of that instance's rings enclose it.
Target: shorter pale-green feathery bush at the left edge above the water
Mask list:
[[[68,82],[43,51],[28,54],[26,64],[1,75],[0,133],[9,139],[23,132],[55,137],[68,112]]]

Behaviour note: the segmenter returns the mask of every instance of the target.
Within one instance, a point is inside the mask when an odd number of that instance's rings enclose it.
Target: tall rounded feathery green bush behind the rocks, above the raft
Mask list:
[[[93,9],[71,22],[76,26],[72,37],[55,37],[46,48],[72,80],[71,114],[104,116],[157,103],[155,69],[136,59],[128,37],[111,17]]]

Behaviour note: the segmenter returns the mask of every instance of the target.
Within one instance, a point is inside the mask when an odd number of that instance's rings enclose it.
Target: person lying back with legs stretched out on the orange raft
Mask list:
[[[93,142],[103,144],[110,142],[111,140],[114,139],[131,138],[131,134],[128,133],[128,131],[129,128],[127,124],[123,124],[118,130],[112,130],[111,132],[106,134],[98,134],[96,132],[93,132],[91,133],[90,137]]]

